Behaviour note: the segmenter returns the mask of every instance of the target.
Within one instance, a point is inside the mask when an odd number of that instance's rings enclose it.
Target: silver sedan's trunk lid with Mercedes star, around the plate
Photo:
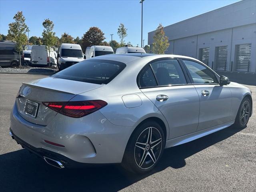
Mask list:
[[[44,126],[48,125],[48,123],[52,121],[57,112],[44,106],[42,102],[66,102],[77,94],[103,86],[100,84],[78,82],[52,77],[22,84],[23,85],[19,91],[20,96],[16,98],[19,114],[31,123]],[[38,104],[35,117],[32,117],[24,112],[26,100]]]

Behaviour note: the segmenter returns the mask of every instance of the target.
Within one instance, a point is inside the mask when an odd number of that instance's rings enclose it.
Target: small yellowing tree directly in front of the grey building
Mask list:
[[[164,52],[169,47],[168,37],[165,36],[164,33],[164,26],[160,23],[159,26],[156,28],[156,32],[154,34],[154,42],[153,42],[153,53],[156,54],[164,54]]]

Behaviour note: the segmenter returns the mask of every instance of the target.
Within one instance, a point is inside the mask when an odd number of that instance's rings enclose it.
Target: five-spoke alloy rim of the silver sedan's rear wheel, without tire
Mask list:
[[[152,167],[158,160],[162,150],[162,136],[158,129],[148,127],[138,136],[134,147],[134,158],[142,169]]]

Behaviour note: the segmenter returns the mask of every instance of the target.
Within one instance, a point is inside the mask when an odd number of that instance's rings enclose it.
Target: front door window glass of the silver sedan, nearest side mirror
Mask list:
[[[216,75],[202,64],[190,60],[183,60],[183,62],[188,68],[194,83],[218,83]]]

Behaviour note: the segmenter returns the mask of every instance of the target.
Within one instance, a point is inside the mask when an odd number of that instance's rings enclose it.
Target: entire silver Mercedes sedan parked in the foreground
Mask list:
[[[10,135],[58,168],[121,163],[150,172],[165,148],[252,114],[248,88],[194,58],[112,54],[23,83]]]

